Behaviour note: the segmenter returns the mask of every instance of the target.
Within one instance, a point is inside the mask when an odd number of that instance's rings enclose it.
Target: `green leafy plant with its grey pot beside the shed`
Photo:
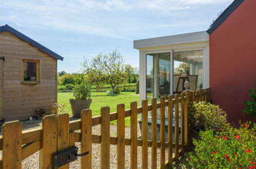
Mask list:
[[[91,97],[91,87],[85,82],[74,87],[74,99],[69,99],[72,115],[75,118],[81,117],[81,111],[84,109],[89,109],[92,102]]]

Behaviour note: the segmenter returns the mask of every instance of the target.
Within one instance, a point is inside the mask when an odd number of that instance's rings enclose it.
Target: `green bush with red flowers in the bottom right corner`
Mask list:
[[[194,152],[188,154],[187,168],[255,168],[256,125],[242,124],[236,129],[225,125],[219,132],[200,132],[193,140]]]

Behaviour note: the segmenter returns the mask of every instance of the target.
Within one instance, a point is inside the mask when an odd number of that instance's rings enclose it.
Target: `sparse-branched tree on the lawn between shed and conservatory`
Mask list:
[[[128,82],[133,68],[124,63],[121,53],[113,50],[109,54],[98,54],[92,60],[85,59],[82,63],[85,80],[91,85],[109,84],[112,89]],[[118,88],[118,87],[117,87]]]

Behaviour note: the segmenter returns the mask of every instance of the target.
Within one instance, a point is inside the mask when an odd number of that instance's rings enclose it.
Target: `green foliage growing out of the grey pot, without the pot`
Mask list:
[[[76,100],[87,100],[91,97],[91,87],[84,82],[76,85],[73,96]]]

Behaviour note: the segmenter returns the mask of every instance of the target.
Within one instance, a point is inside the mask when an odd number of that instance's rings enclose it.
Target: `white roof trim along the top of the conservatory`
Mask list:
[[[194,42],[208,41],[208,40],[209,40],[209,34],[206,31],[201,31],[201,32],[184,33],[179,35],[154,37],[149,39],[133,40],[133,48],[140,49],[140,48],[155,47],[155,46],[194,43]]]

